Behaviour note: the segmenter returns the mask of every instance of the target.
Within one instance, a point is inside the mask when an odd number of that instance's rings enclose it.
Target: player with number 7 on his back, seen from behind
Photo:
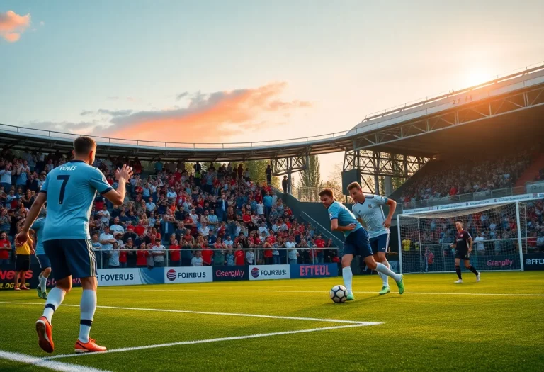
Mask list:
[[[55,349],[52,339],[51,318],[72,289],[72,276],[81,279],[81,317],[79,337],[75,345],[77,353],[106,351],[89,337],[96,310],[96,258],[89,237],[89,218],[96,197],[101,193],[114,205],[125,199],[125,184],[132,176],[132,169],[123,165],[115,171],[119,181],[113,190],[101,171],[92,167],[96,154],[96,142],[90,137],[74,140],[74,160],[57,167],[47,174],[40,193],[28,212],[23,230],[17,235],[18,242],[26,242],[28,230],[47,201],[47,216],[43,225],[42,239],[45,254],[51,261],[52,276],[57,286],[47,296],[43,315],[36,322],[38,344],[47,353]]]

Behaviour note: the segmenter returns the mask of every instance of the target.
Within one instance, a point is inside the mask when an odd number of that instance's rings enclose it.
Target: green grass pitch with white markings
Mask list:
[[[542,371],[544,272],[482,273],[480,283],[464,273],[461,285],[455,279],[409,274],[404,295],[394,293],[392,283],[392,293],[380,296],[378,276],[356,276],[356,301],[344,304],[329,298],[341,278],[98,288],[104,308],[96,311],[91,337],[110,350],[137,349],[51,359],[62,364],[50,366],[123,372]],[[80,295],[75,288],[53,317],[53,356],[73,354]],[[34,290],[0,292],[0,371],[48,370],[28,363],[49,356],[39,349],[34,329],[43,302]],[[322,330],[294,332],[310,329]],[[261,336],[242,338],[249,335]],[[138,349],[153,345],[162,346]],[[6,352],[24,354],[27,363],[5,359]]]

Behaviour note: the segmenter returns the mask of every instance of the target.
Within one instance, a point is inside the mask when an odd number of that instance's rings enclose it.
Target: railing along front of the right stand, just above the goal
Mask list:
[[[463,203],[467,201],[482,201],[492,198],[504,198],[505,196],[523,195],[526,193],[540,193],[544,191],[544,182],[528,182],[526,186],[497,188],[496,190],[480,191],[476,193],[463,193],[443,198],[431,198],[424,201],[409,201],[402,204],[402,210],[414,208],[433,207],[450,203]]]

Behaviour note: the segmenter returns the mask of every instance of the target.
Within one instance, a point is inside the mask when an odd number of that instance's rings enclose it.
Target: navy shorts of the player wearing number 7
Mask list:
[[[96,276],[96,257],[91,240],[58,239],[43,242],[45,254],[51,261],[52,276],[56,281],[73,276]]]

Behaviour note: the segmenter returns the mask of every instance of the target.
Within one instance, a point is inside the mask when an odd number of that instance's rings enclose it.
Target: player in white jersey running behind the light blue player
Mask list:
[[[365,225],[368,231],[368,238],[370,239],[370,247],[372,247],[372,253],[376,262],[380,262],[387,267],[389,262],[385,257],[389,249],[389,238],[391,226],[391,218],[395,209],[397,208],[397,202],[392,199],[385,198],[378,195],[365,195],[363,188],[358,182],[353,182],[348,186],[348,192],[351,198],[353,198],[353,215]],[[389,205],[389,213],[387,217],[383,213],[383,205]],[[380,295],[390,293],[388,276],[378,272],[380,278],[382,278],[383,286],[380,291]]]

